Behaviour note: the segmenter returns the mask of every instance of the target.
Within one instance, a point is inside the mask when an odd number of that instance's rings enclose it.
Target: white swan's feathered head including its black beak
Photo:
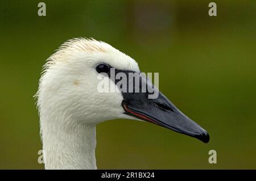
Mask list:
[[[121,87],[118,73],[128,78]],[[139,83],[132,83],[131,91],[130,74],[139,76]],[[152,85],[140,74],[133,58],[111,45],[94,39],[69,40],[44,65],[36,94],[40,117],[68,117],[51,120],[65,126],[120,118],[144,120],[203,142],[209,141],[209,134],[180,112],[156,87],[154,91],[158,94],[152,99],[149,98],[152,92],[147,89],[135,92],[136,87],[141,89],[143,82]]]

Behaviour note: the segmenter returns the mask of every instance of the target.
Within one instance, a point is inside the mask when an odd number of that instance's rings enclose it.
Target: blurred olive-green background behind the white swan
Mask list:
[[[32,96],[47,57],[72,37],[106,41],[159,72],[159,89],[209,144],[140,121],[97,125],[98,169],[256,169],[255,1],[0,2],[0,169],[43,169]],[[217,151],[217,164],[208,151]]]

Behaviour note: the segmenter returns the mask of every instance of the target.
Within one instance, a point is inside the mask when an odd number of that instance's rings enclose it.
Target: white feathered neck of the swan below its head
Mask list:
[[[97,169],[95,124],[63,127],[55,120],[40,122],[46,169]]]

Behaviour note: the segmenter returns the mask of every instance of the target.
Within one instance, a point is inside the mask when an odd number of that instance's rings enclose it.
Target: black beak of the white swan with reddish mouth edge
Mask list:
[[[128,74],[131,71],[121,72]],[[150,123],[160,125],[164,128],[172,129],[173,131],[181,134],[195,137],[205,143],[209,142],[209,134],[207,131],[178,110],[174,104],[166,98],[166,96],[152,85],[151,81],[147,77],[143,77],[138,73],[134,76],[134,79],[136,79],[136,76],[139,76],[140,82],[133,84],[133,91],[122,91],[122,106],[127,115],[149,121]],[[117,81],[118,80],[115,80],[115,82]],[[151,93],[148,89],[144,92],[141,91],[143,82],[146,82],[147,86],[153,86],[154,91],[158,91],[158,96],[155,99],[148,98],[148,95],[152,95],[152,91],[150,91]],[[129,82],[127,82],[128,89],[130,89],[129,86]],[[136,92],[135,89],[139,89],[140,91]]]

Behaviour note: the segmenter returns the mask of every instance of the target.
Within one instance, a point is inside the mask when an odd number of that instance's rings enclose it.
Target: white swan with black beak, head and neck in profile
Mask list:
[[[137,62],[103,41],[66,41],[43,66],[36,93],[45,169],[97,169],[96,124],[112,119],[143,120],[205,143],[209,134],[160,91],[100,92],[98,75],[139,73]],[[143,78],[142,78],[143,79]],[[113,79],[110,85],[117,86]],[[139,86],[139,85],[135,85]],[[156,89],[156,88],[155,88]]]

